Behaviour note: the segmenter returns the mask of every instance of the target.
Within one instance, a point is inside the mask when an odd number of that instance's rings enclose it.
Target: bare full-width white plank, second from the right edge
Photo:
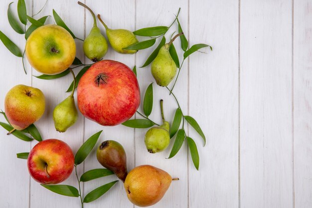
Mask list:
[[[292,2],[240,15],[241,208],[292,208]]]

